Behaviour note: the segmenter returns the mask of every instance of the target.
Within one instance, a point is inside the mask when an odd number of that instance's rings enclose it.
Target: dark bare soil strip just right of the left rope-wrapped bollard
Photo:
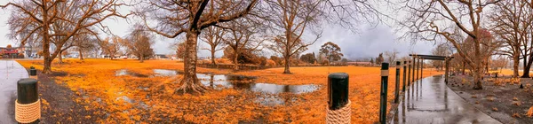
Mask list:
[[[41,123],[84,123],[104,118],[98,109],[86,110],[88,105],[76,104],[75,100],[81,97],[51,78],[51,75],[63,74],[67,73],[38,74],[39,95],[43,100]]]

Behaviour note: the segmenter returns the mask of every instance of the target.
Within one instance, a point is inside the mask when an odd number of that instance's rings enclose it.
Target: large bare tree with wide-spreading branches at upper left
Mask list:
[[[122,17],[116,12],[116,7],[123,6],[117,0],[91,0],[91,1],[64,1],[64,0],[32,0],[21,1],[19,3],[8,3],[0,5],[0,8],[13,7],[14,12],[10,18],[20,18],[21,24],[12,24],[10,27],[15,30],[15,34],[21,33],[21,28],[30,28],[28,34],[40,36],[43,44],[44,74],[50,74],[51,63],[54,58],[60,55],[63,45],[68,43],[71,37],[78,35],[81,30],[100,24],[101,21]],[[20,20],[19,19],[19,20]],[[64,25],[61,30],[54,30],[56,25]],[[101,25],[100,25],[101,26]],[[21,39],[21,44],[25,44],[27,36]],[[52,37],[55,39],[52,40]],[[54,41],[55,40],[55,41]],[[50,54],[50,44],[55,42],[56,50]]]

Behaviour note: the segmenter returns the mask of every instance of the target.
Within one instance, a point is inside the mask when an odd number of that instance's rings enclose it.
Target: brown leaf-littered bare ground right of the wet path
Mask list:
[[[530,78],[517,80],[485,76],[484,79],[481,90],[474,90],[473,78],[466,75],[452,76],[448,87],[469,104],[502,123],[533,124],[533,118],[527,116],[529,108],[533,106]],[[524,89],[519,89],[520,83]]]

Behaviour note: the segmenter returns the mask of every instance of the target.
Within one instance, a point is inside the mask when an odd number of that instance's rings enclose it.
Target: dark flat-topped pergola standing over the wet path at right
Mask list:
[[[418,80],[418,78],[422,78],[422,72],[423,72],[422,69],[423,69],[423,66],[424,66],[424,62],[421,63],[420,61],[424,61],[424,60],[441,60],[442,61],[443,60],[446,63],[446,66],[445,66],[446,70],[445,70],[445,73],[444,73],[444,81],[446,83],[448,83],[449,60],[452,59],[453,57],[451,57],[451,56],[447,57],[447,56],[434,56],[434,55],[420,55],[420,54],[409,54],[409,56],[413,58],[412,63],[411,63],[411,61],[409,61],[409,62],[404,62],[404,64],[408,63],[405,66],[413,66],[412,67],[413,79],[412,79],[411,82],[415,81],[415,75],[416,75],[417,80]],[[415,74],[415,67],[416,67],[417,74]],[[419,74],[420,77],[418,77],[418,71],[420,72],[420,74]]]

